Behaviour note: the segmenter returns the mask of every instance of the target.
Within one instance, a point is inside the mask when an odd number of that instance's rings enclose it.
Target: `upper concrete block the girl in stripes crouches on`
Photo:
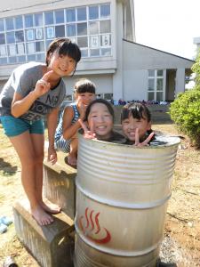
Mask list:
[[[44,197],[61,206],[62,212],[74,220],[76,208],[76,169],[65,163],[66,153],[59,151],[58,162],[44,160]]]

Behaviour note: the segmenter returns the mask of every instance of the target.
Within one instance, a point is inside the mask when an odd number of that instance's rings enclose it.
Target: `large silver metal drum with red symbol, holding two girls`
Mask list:
[[[137,148],[79,134],[76,267],[156,266],[179,138]]]

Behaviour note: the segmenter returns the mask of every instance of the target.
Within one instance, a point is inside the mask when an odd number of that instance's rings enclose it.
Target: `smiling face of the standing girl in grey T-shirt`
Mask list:
[[[48,68],[54,70],[59,77],[69,76],[76,68],[76,61],[55,51],[49,56]]]

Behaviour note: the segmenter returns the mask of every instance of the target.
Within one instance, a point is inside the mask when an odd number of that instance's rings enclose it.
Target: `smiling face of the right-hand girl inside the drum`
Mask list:
[[[146,117],[134,118],[132,117],[132,114],[130,114],[128,118],[125,118],[122,121],[122,128],[125,137],[127,137],[130,141],[135,141],[136,128],[139,129],[139,138],[142,139],[147,131],[151,129],[151,123],[148,122]]]

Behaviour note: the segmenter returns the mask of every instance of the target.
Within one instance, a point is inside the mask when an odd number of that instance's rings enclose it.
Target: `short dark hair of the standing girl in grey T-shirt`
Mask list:
[[[46,66],[49,66],[50,56],[55,51],[57,51],[59,55],[72,58],[74,61],[76,61],[76,64],[81,60],[81,51],[77,44],[72,43],[68,38],[57,38],[54,39],[51,44],[49,44],[47,49],[45,60]]]

